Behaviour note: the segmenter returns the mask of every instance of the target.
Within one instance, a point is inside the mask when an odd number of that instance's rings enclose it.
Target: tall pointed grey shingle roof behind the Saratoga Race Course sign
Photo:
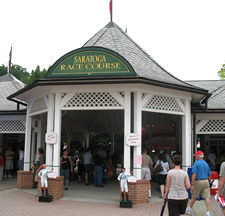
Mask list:
[[[188,88],[196,88],[167,72],[113,22],[102,28],[83,45],[83,47],[89,46],[104,47],[119,53],[133,66],[139,77]]]

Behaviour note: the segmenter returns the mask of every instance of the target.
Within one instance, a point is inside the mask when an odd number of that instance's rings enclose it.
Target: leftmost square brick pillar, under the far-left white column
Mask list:
[[[34,174],[31,171],[17,171],[17,188],[31,189],[34,185]]]

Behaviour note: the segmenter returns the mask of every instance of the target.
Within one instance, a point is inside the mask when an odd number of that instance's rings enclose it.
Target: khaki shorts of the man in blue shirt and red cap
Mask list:
[[[210,197],[210,187],[208,179],[195,181],[192,197],[197,199],[200,195],[202,195],[202,198]]]

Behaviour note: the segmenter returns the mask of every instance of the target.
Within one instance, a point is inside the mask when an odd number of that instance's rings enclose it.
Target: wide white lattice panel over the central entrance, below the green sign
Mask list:
[[[123,97],[122,94],[118,96]],[[77,109],[77,108],[123,108],[115,97],[108,92],[98,93],[76,93],[71,99],[63,106],[64,108]]]

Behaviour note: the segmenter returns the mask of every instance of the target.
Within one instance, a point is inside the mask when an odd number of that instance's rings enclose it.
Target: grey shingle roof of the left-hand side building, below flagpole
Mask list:
[[[16,79],[12,74],[6,74],[0,77],[0,111],[16,111],[17,104],[9,101],[7,97],[20,89],[24,88],[25,84]],[[25,106],[20,106],[20,109],[25,110]]]

